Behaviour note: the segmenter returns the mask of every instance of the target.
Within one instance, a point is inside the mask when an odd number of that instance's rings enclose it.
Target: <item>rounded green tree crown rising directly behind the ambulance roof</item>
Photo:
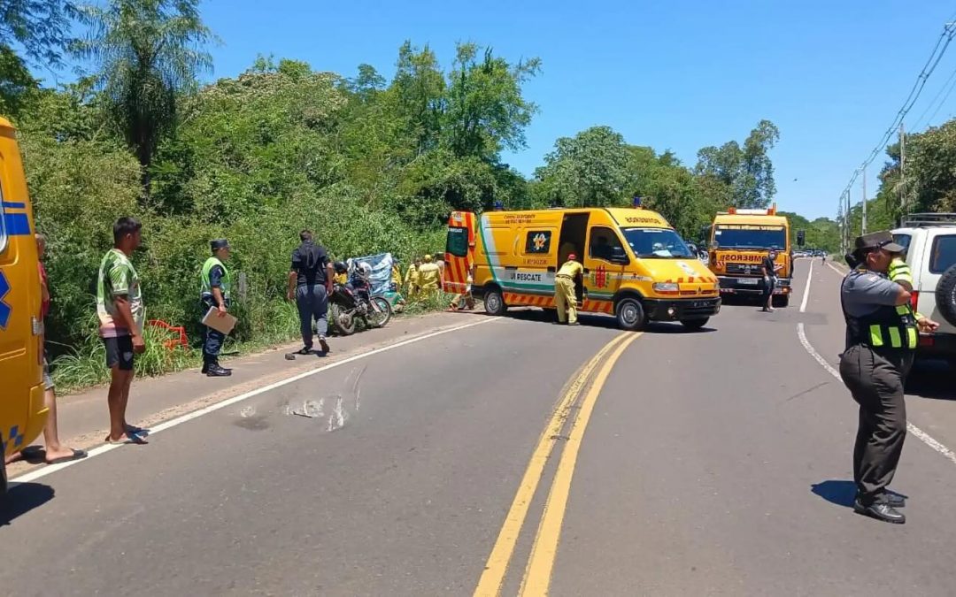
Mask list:
[[[621,203],[628,192],[631,156],[624,138],[609,126],[581,131],[554,142],[545,165],[534,172],[549,203],[600,207]],[[540,196],[540,195],[539,195]]]

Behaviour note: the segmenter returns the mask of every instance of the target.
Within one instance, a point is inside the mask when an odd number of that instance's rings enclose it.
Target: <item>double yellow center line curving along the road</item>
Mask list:
[[[531,461],[528,463],[525,475],[518,486],[514,501],[511,502],[511,509],[508,511],[508,516],[505,517],[501,532],[498,533],[498,540],[491,549],[485,571],[478,581],[478,587],[475,588],[474,594],[476,597],[496,596],[501,592],[505,576],[508,573],[508,566],[511,563],[511,557],[514,554],[514,546],[518,542],[521,528],[528,517],[528,510],[534,494],[537,492],[538,484],[541,482],[548,458],[554,451],[554,445],[572,406],[575,404],[576,398],[587,387],[591,373],[597,369],[598,365],[603,363],[594,379],[594,383],[591,385],[591,389],[581,400],[578,415],[572,423],[567,442],[561,453],[561,459],[554,473],[554,481],[548,493],[548,500],[545,502],[544,513],[534,537],[532,555],[521,583],[521,594],[523,595],[545,595],[548,593],[581,439],[584,437],[588,420],[590,420],[597,402],[597,395],[600,394],[604,382],[607,381],[607,377],[611,374],[611,370],[621,353],[640,335],[640,332],[622,333],[607,343],[578,371],[564,394],[561,395],[557,407],[554,409],[554,415],[548,421],[544,433],[541,434],[537,445],[534,447]]]

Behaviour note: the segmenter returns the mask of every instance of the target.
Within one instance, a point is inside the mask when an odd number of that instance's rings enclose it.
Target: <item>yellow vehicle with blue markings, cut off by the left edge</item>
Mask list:
[[[40,274],[16,131],[0,117],[0,440],[4,455],[30,444],[46,423]],[[7,490],[0,462],[0,496]]]

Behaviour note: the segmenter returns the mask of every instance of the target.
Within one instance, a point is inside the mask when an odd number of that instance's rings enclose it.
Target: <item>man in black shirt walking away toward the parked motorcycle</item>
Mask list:
[[[312,232],[299,233],[301,245],[293,251],[293,267],[289,272],[289,300],[295,300],[299,311],[302,344],[298,354],[312,352],[312,321],[318,332],[318,344],[322,352],[329,352],[326,334],[329,330],[329,295],[335,272],[332,262],[322,245],[315,245]]]

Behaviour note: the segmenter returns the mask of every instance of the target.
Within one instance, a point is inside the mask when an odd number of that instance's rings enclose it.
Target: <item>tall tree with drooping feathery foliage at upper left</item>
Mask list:
[[[199,73],[212,66],[203,48],[213,35],[200,19],[198,4],[110,0],[80,11],[90,32],[76,42],[76,53],[97,65],[98,86],[140,161],[145,197],[160,141],[177,124],[180,94],[193,91]]]

